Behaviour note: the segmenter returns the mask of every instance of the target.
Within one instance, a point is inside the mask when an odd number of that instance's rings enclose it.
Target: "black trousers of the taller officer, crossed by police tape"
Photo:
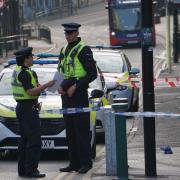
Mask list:
[[[63,108],[88,107],[87,91],[76,93],[73,97],[62,96]],[[92,165],[90,113],[65,114],[66,136],[70,166],[80,168]]]

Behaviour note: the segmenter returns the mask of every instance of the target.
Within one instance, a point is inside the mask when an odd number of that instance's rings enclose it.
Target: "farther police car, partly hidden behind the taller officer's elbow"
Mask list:
[[[108,101],[127,98],[128,111],[138,111],[139,88],[133,87],[130,78],[138,76],[140,70],[132,67],[121,46],[91,46],[97,66],[101,69],[107,86]]]

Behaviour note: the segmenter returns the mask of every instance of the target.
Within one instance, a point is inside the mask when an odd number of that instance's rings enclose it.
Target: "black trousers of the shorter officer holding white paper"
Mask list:
[[[31,103],[18,103],[17,119],[20,122],[21,139],[18,146],[18,173],[31,175],[37,171],[41,153],[40,119]]]

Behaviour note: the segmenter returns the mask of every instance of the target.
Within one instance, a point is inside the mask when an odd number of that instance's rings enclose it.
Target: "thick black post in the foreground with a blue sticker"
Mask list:
[[[143,110],[155,111],[152,0],[141,1]],[[155,118],[144,117],[145,175],[156,176]]]

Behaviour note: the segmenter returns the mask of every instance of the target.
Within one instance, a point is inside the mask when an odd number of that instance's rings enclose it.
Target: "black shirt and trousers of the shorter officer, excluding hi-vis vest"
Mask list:
[[[21,52],[15,53],[20,55]],[[31,84],[31,76],[26,72],[27,67],[22,66],[18,75],[19,81],[25,90],[34,88]],[[33,72],[37,79],[37,75]],[[38,79],[37,79],[38,81]],[[18,145],[18,174],[19,176],[31,176],[38,174],[38,163],[41,152],[41,131],[39,112],[34,108],[38,99],[17,100],[16,115],[20,123],[21,139]]]

